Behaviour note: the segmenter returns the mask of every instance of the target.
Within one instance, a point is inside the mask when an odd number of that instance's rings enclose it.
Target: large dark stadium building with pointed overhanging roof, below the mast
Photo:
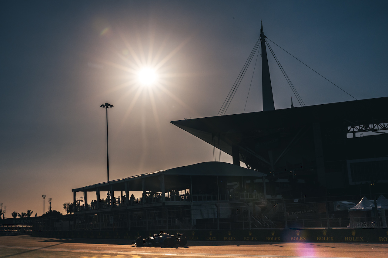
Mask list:
[[[171,123],[228,153],[235,165],[266,174],[274,182],[267,196],[383,193],[387,103],[383,97]]]

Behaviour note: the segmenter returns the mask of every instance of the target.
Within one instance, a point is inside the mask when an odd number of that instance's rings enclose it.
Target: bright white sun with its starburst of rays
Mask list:
[[[171,59],[179,52],[194,36],[188,36],[177,46],[168,50],[168,37],[164,40],[155,40],[154,36],[148,42],[142,41],[140,36],[135,38],[127,38],[125,34],[120,33],[120,40],[112,41],[114,45],[117,44],[118,48],[113,49],[113,53],[119,58],[120,62],[113,62],[102,58],[95,58],[97,65],[93,66],[99,68],[107,66],[123,71],[118,78],[121,83],[116,86],[109,87],[104,95],[112,93],[114,91],[122,91],[120,97],[116,100],[116,103],[125,101],[129,103],[128,108],[122,118],[122,126],[124,121],[128,119],[128,116],[132,112],[136,103],[139,100],[148,100],[145,102],[147,105],[151,105],[152,112],[154,113],[155,121],[158,124],[158,107],[157,100],[161,100],[161,95],[168,95],[171,99],[176,101],[180,106],[189,110],[193,114],[196,114],[196,110],[192,109],[187,103],[182,101],[176,96],[170,87],[170,79],[185,77],[188,74],[179,74],[170,71],[170,67],[174,65],[169,64]],[[117,38],[114,38],[117,40]],[[136,44],[137,43],[137,44]],[[158,43],[158,44],[157,44]],[[137,46],[137,48],[136,48]],[[100,68],[102,69],[102,68]],[[193,75],[194,76],[194,75]],[[174,85],[174,84],[172,84]]]

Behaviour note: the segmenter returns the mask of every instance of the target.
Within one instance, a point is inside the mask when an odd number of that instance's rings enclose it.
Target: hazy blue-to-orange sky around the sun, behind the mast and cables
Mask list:
[[[0,10],[0,203],[43,213],[109,177],[213,161],[170,123],[217,115],[260,35],[356,99],[388,96],[385,1],[8,1]],[[305,105],[354,100],[269,41]],[[299,107],[268,51],[275,108]],[[256,58],[256,57],[255,57]],[[262,110],[255,59],[226,114]],[[151,67],[150,85],[137,79]],[[250,88],[249,88],[250,87]],[[249,91],[249,95],[248,95]],[[217,161],[218,161],[218,155]],[[232,158],[222,153],[222,161]],[[90,195],[89,200],[95,199]]]

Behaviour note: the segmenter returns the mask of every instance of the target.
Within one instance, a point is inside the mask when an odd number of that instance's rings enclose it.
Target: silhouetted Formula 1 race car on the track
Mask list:
[[[150,245],[150,246],[185,246],[187,244],[187,236],[186,234],[175,234],[170,235],[165,232],[160,232],[159,234],[154,234],[153,236],[143,238],[138,237],[136,241],[132,242],[132,245],[141,247],[144,246],[144,244]]]

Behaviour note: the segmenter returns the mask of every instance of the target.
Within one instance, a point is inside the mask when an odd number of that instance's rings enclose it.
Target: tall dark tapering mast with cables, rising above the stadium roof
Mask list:
[[[261,21],[260,41],[262,43],[262,84],[263,84],[263,111],[275,110],[274,96],[272,95],[271,77],[269,75],[267,49],[265,48],[265,38],[263,32],[263,22]]]

